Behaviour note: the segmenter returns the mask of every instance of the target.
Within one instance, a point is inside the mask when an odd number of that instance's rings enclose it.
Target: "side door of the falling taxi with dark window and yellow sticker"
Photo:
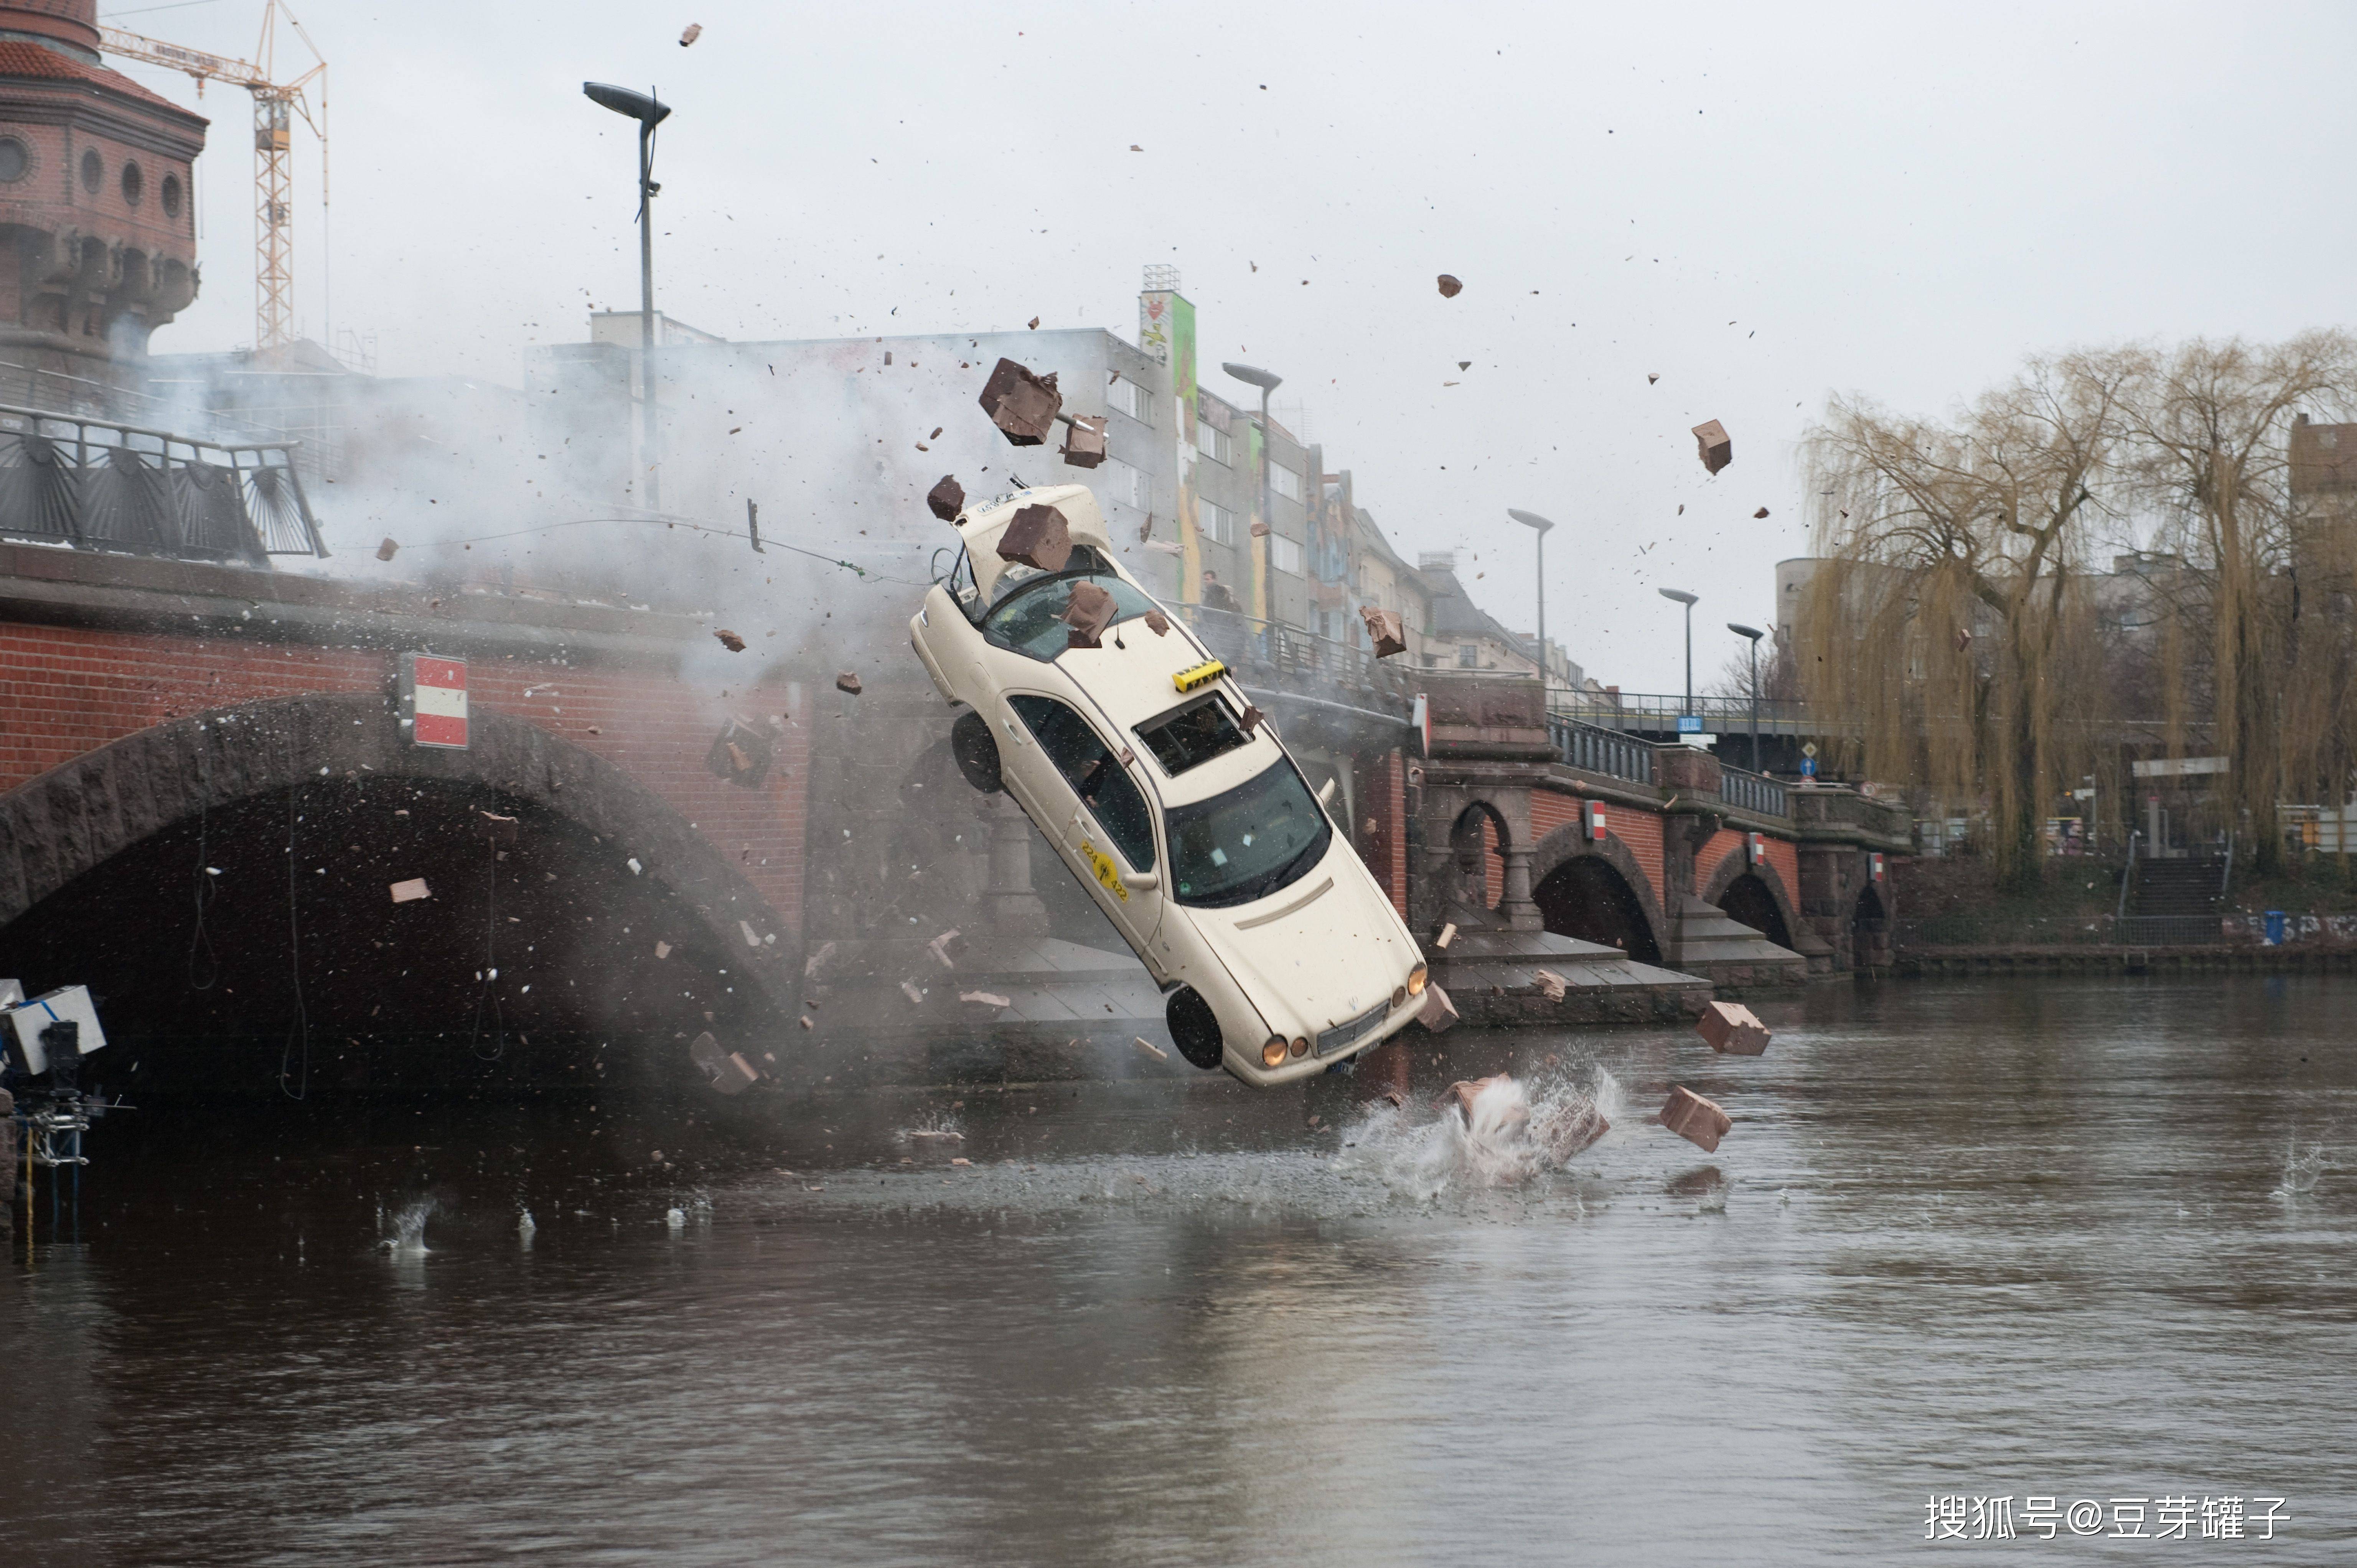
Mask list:
[[[1006,705],[1030,731],[1032,745],[1021,750],[1037,757],[1025,780],[1039,795],[1032,821],[1160,979],[1150,943],[1162,924],[1162,856],[1155,806],[1138,783],[1136,759],[1124,762],[1068,703],[1011,693]],[[1143,887],[1141,877],[1155,887]]]

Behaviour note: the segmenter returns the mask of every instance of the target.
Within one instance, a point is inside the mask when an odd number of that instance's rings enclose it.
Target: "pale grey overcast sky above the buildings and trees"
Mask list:
[[[243,57],[259,14],[101,19]],[[1940,410],[2039,349],[2338,325],[2357,252],[2348,5],[299,17],[332,64],[335,207],[306,144],[297,309],[313,337],[375,332],[382,373],[516,384],[592,304],[636,309],[632,127],[580,83],[658,85],[669,314],[1134,335],[1141,266],[1176,264],[1204,384],[1249,396],[1221,358],[1285,375],[1280,417],[1402,552],[1478,552],[1464,575],[1508,625],[1532,578],[1504,512],[1553,516],[1549,630],[1624,689],[1681,681],[1659,585],[1702,594],[1697,679],[1737,646],[1723,622],[1775,618],[1772,564],[1805,549],[1794,443],[1829,394]],[[247,344],[247,99],[125,68],[214,116],[205,292],[153,347]],[[1718,479],[1688,436],[1706,417],[1735,439]]]

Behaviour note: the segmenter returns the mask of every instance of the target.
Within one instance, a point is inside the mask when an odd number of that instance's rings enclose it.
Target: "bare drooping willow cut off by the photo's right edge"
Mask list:
[[[2282,863],[2277,802],[2310,790],[2348,797],[2352,693],[2345,604],[2350,531],[2303,528],[2291,436],[2315,413],[2345,413],[2357,340],[2303,332],[2284,344],[2190,342],[2147,354],[2128,384],[2131,479],[2180,554],[2201,604],[2206,729],[2227,759],[2234,816],[2260,870]],[[2303,568],[2310,578],[2303,589]],[[2187,681],[2171,681],[2178,705]],[[2204,722],[2206,719],[2206,722]],[[2171,731],[2183,731],[2178,712]]]

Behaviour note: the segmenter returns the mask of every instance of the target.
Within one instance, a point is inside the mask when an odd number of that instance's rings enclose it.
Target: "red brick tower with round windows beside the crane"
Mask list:
[[[132,417],[196,299],[203,116],[99,64],[97,0],[0,0],[0,403]]]

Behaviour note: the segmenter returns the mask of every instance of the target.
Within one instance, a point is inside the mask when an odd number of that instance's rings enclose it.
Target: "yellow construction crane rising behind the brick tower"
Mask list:
[[[311,68],[302,75],[278,80],[278,14],[302,47],[311,52]],[[318,137],[318,205],[328,205],[328,59],[304,33],[283,0],[266,0],[262,7],[262,42],[255,61],[205,54],[177,42],[141,38],[123,28],[99,28],[99,45],[108,54],[170,66],[196,78],[196,97],[205,97],[205,83],[231,83],[255,94],[255,347],[276,349],[295,342],[295,174],[290,156],[295,151],[295,116]],[[311,113],[311,92],[318,90],[318,116]]]

